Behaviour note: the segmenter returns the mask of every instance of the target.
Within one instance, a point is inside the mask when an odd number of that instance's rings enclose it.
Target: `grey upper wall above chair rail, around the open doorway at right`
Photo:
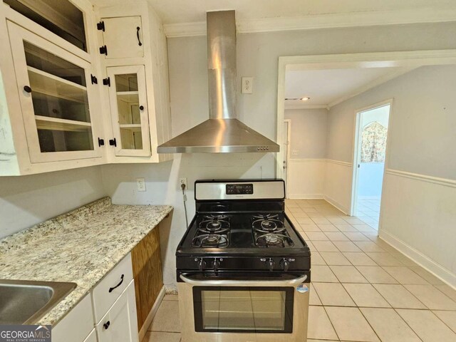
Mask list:
[[[456,179],[456,66],[425,66],[331,108],[328,158],[352,162],[355,112],[394,98],[388,167]]]

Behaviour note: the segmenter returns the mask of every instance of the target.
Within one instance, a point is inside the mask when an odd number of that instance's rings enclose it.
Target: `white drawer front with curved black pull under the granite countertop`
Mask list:
[[[105,275],[92,291],[95,323],[98,323],[108,312],[132,280],[131,254],[128,254],[112,271]]]

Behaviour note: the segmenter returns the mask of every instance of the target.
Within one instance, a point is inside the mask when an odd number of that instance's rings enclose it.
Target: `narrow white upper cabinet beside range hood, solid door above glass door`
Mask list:
[[[157,153],[157,146],[171,138],[167,42],[160,19],[146,1],[96,13],[105,72],[103,108],[109,108],[105,121],[111,122],[105,126],[105,136],[112,137],[107,139],[108,162],[172,159]]]

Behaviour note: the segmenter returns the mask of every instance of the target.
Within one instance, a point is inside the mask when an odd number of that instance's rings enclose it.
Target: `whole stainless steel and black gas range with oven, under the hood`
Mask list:
[[[306,341],[311,253],[283,180],[198,180],[176,252],[183,342]]]

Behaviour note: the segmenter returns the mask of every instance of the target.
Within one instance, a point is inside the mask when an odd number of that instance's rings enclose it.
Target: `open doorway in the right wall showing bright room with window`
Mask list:
[[[390,101],[356,113],[352,215],[378,229]]]

